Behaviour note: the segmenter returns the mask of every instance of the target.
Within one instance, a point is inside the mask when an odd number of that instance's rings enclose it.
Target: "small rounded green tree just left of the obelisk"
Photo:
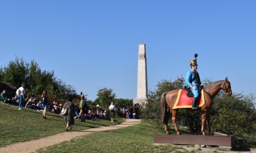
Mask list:
[[[98,98],[96,98],[95,103],[107,108],[107,106],[110,105],[116,97],[116,94],[112,92],[113,90],[108,89],[107,87],[98,90]]]

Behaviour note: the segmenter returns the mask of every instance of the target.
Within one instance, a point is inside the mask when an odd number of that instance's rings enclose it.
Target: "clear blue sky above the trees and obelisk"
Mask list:
[[[198,53],[200,78],[256,94],[254,0],[8,0],[0,2],[0,66],[15,55],[94,100],[100,88],[136,98],[138,45],[148,88],[175,80]]]

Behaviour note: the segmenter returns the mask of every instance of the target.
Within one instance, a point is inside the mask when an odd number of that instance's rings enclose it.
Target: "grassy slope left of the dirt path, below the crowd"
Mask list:
[[[46,117],[47,120],[42,118],[42,111],[35,111],[30,108],[20,111],[18,106],[0,102],[0,147],[16,142],[35,140],[65,131],[66,126],[63,123],[62,116],[47,112]],[[85,123],[75,119],[72,131],[116,125],[125,121],[123,118],[116,119],[116,122],[85,120]]]

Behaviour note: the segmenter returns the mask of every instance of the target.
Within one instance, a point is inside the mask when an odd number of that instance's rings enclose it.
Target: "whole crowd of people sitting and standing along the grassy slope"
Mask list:
[[[71,125],[74,124],[74,119],[81,118],[81,122],[85,122],[85,118],[87,119],[107,119],[114,122],[115,112],[120,111],[124,118],[136,118],[138,115],[139,105],[127,106],[127,108],[116,108],[114,103],[112,102],[109,106],[109,114],[107,112],[107,108],[101,109],[100,107],[96,107],[94,110],[88,107],[87,102],[85,100],[85,96],[80,94],[80,105],[72,102],[72,97],[67,97],[67,102],[63,105],[62,103],[58,103],[58,101],[54,100],[53,103],[49,103],[49,96],[47,91],[44,90],[40,99],[38,100],[35,95],[25,97],[25,84],[22,83],[21,87],[16,91],[16,95],[12,98],[7,97],[6,90],[3,90],[0,94],[0,101],[4,103],[9,103],[13,105],[18,105],[18,110],[23,110],[23,107],[35,109],[36,111],[42,111],[42,117],[46,118],[46,112],[50,111],[51,113],[61,114],[64,109],[67,109],[67,115],[64,116],[64,124],[67,125],[66,131],[71,130]],[[50,104],[50,105],[49,105]],[[69,128],[69,129],[68,129]]]

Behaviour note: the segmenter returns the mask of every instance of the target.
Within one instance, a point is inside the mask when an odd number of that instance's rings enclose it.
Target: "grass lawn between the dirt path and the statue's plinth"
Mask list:
[[[162,133],[147,122],[122,129],[102,131],[71,139],[38,153],[188,153],[183,147],[154,145],[153,135]]]

